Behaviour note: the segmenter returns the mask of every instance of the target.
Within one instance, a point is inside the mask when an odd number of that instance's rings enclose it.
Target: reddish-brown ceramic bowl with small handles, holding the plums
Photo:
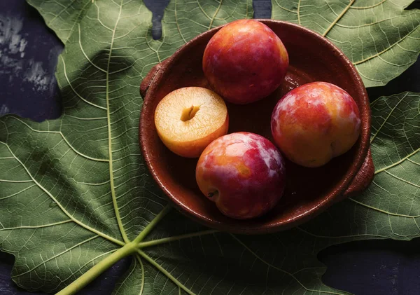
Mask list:
[[[200,192],[195,182],[197,159],[181,158],[169,151],[160,141],[153,119],[158,102],[172,90],[186,86],[209,88],[202,72],[202,56],[207,42],[221,27],[200,34],[156,65],[141,83],[144,106],[139,134],[148,168],[179,211],[201,224],[231,233],[270,233],[297,226],[333,203],[363,191],[374,174],[369,149],[369,100],[353,64],[330,41],[309,29],[289,22],[260,21],[283,41],[290,66],[283,84],[269,97],[247,105],[228,104],[229,132],[255,132],[272,140],[270,117],[276,102],[299,85],[326,81],[343,88],[356,100],[361,134],[349,152],[323,167],[305,168],[287,161],[286,192],[279,204],[257,219],[230,219]]]

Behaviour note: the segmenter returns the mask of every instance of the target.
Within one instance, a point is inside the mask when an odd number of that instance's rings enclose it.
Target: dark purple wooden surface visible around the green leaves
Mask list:
[[[147,0],[153,11],[153,36],[160,36],[160,20],[168,0]],[[255,18],[269,18],[269,0],[254,0]],[[420,1],[410,6],[420,8]],[[40,15],[25,0],[0,0],[0,116],[6,113],[42,121],[60,114],[54,78],[63,46]],[[420,60],[385,87],[370,88],[370,99],[405,90],[420,92]],[[420,294],[420,239],[351,242],[318,255],[328,266],[323,282],[356,295]],[[130,265],[120,261],[80,294],[111,294],[118,277]],[[13,256],[0,252],[0,295],[34,294],[10,279]],[[41,294],[41,293],[38,293]]]

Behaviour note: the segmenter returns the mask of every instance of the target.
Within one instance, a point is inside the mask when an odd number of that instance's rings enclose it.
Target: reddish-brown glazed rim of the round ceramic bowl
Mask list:
[[[191,39],[187,43],[185,43],[183,46],[178,48],[175,53],[173,53],[170,57],[167,58],[167,60],[162,61],[160,64],[162,67],[160,67],[151,78],[150,88],[148,88],[146,95],[144,96],[144,104],[141,107],[141,114],[140,114],[140,120],[139,120],[139,143],[141,146],[141,152],[144,156],[144,160],[146,162],[146,165],[148,166],[149,171],[151,172],[151,175],[153,179],[156,181],[158,186],[162,189],[162,191],[169,197],[169,199],[172,201],[174,205],[176,205],[176,209],[179,210],[182,214],[186,215],[190,219],[193,219],[197,221],[200,224],[203,224],[205,226],[209,226],[211,228],[216,228],[220,231],[226,231],[230,233],[240,233],[240,234],[262,234],[262,233],[274,233],[276,231],[283,231],[288,228],[292,228],[295,226],[298,226],[299,224],[304,223],[305,221],[312,219],[316,217],[316,215],[321,214],[324,210],[326,210],[328,207],[330,207],[333,203],[337,202],[337,199],[341,200],[342,198],[339,198],[341,195],[344,195],[345,191],[349,186],[351,185],[351,181],[356,177],[356,174],[358,174],[360,167],[362,167],[363,163],[365,162],[365,159],[367,158],[368,151],[370,149],[370,127],[371,127],[371,116],[370,116],[370,102],[369,97],[367,96],[365,85],[363,84],[362,79],[360,78],[360,75],[358,74],[358,71],[356,67],[354,67],[353,63],[349,60],[346,55],[335,46],[334,43],[326,39],[321,34],[318,34],[317,32],[312,31],[311,29],[307,29],[306,27],[302,27],[301,25],[294,24],[292,22],[286,22],[282,20],[270,20],[270,19],[255,19],[259,22],[262,22],[265,25],[268,24],[281,24],[283,26],[290,26],[294,27],[297,30],[300,30],[301,32],[304,32],[304,34],[309,34],[315,39],[318,39],[320,43],[325,43],[330,47],[332,51],[335,51],[335,53],[341,58],[346,66],[346,71],[349,71],[349,74],[353,78],[353,83],[356,89],[356,92],[358,92],[358,95],[360,95],[360,105],[358,106],[359,109],[365,108],[365,111],[362,114],[360,114],[360,121],[363,123],[360,129],[360,135],[359,140],[360,144],[358,144],[356,156],[353,160],[353,163],[349,166],[346,174],[342,178],[341,181],[335,185],[332,190],[328,193],[328,195],[325,195],[324,198],[319,200],[319,202],[314,206],[311,207],[309,210],[305,210],[302,212],[302,214],[297,214],[294,217],[291,217],[289,219],[283,220],[281,222],[277,223],[271,223],[271,224],[264,224],[259,226],[241,226],[238,224],[237,226],[227,225],[220,223],[218,221],[215,221],[214,219],[209,219],[206,216],[203,216],[202,214],[195,212],[190,207],[188,207],[186,204],[181,203],[178,198],[176,198],[176,195],[172,193],[172,191],[169,191],[167,186],[165,186],[164,181],[160,178],[158,175],[158,172],[155,170],[154,164],[151,161],[151,148],[146,144],[147,142],[147,128],[143,128],[145,126],[145,122],[148,121],[148,118],[146,118],[144,109],[148,106],[148,104],[151,103],[153,100],[152,93],[155,92],[155,89],[158,88],[159,81],[161,80],[162,76],[165,75],[165,71],[168,67],[171,66],[176,60],[179,60],[181,57],[183,50],[186,50],[187,48],[190,48],[195,45],[195,42],[198,39],[202,39],[203,37],[214,34],[214,32],[218,31],[225,25],[221,25],[218,27],[214,27],[213,29],[209,29],[206,32],[203,32],[202,34],[199,34],[195,36],[195,38]],[[145,77],[146,80],[146,77]],[[360,111],[362,113],[362,111]]]

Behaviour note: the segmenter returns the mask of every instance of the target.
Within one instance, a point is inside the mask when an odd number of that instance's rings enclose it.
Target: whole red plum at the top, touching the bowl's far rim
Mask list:
[[[207,44],[202,67],[226,101],[248,104],[267,97],[286,76],[288,53],[279,37],[257,20],[236,20]]]

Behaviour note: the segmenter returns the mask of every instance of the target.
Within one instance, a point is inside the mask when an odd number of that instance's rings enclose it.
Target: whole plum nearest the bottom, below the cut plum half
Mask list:
[[[196,168],[200,191],[234,219],[265,214],[276,205],[286,185],[283,158],[268,139],[235,132],[211,142]]]

